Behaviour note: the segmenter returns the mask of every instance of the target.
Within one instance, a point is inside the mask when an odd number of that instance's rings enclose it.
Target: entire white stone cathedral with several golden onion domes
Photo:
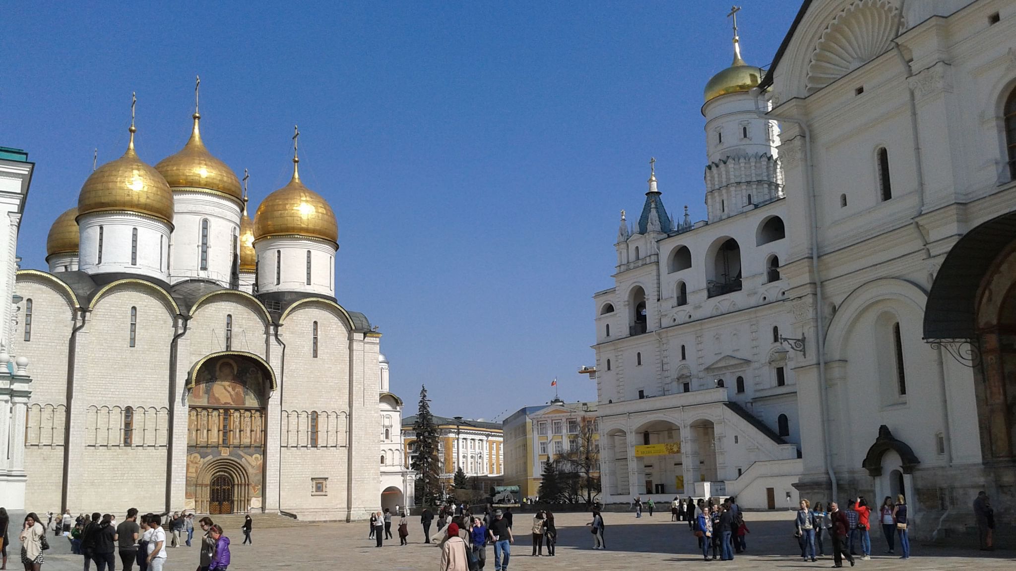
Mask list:
[[[199,120],[155,167],[132,122],[54,223],[49,271],[17,273],[25,506],[366,518],[381,334],[335,299],[335,214],[295,152],[252,220]]]

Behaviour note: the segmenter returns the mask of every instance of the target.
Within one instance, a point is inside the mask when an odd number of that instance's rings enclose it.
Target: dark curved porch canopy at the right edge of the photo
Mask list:
[[[1003,214],[966,233],[935,276],[925,307],[925,340],[977,337],[977,294],[998,255],[1016,237],[1016,212]]]

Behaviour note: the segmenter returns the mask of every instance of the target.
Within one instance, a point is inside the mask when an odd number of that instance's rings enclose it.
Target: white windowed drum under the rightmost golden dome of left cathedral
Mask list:
[[[272,237],[254,243],[258,292],[307,292],[335,295],[335,246],[323,240]],[[311,256],[307,283],[307,255]],[[279,262],[281,265],[279,266]],[[278,277],[276,283],[276,275]]]

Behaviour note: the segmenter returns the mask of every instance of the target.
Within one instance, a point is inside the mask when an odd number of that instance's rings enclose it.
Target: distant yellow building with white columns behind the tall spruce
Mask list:
[[[417,456],[417,433],[412,428],[416,422],[416,416],[402,420],[402,443],[407,465],[411,465]],[[434,424],[438,430],[442,485],[451,487],[459,466],[465,475],[483,479],[487,484],[485,489],[500,485],[505,460],[501,423],[435,416]]]

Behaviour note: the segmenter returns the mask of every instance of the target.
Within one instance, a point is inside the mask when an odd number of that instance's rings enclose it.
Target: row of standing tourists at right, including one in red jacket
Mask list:
[[[832,544],[833,567],[842,567],[843,559],[851,567],[854,565],[854,557],[871,559],[870,530],[873,517],[882,526],[888,547],[886,553],[895,554],[898,538],[900,559],[909,559],[907,507],[902,495],[897,496],[895,502],[886,496],[877,512],[868,505],[864,496],[850,500],[845,510],[841,510],[836,502],[830,502],[827,511],[821,502],[813,508],[808,500],[801,500],[801,507],[795,518],[795,535],[801,546],[801,559],[817,561],[817,557],[825,556],[824,534],[828,534]],[[860,554],[854,549],[859,544]]]

